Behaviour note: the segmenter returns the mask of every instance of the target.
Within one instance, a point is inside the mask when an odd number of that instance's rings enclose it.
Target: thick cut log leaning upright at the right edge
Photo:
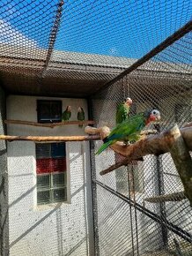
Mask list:
[[[184,193],[192,207],[192,159],[177,125],[169,131],[169,134],[172,137],[172,143],[168,143],[169,150],[184,186]]]

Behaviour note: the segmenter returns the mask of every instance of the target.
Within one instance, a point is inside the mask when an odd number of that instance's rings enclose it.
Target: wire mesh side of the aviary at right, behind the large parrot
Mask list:
[[[114,127],[116,107],[127,96],[133,100],[130,115],[144,109],[159,109],[159,132],[175,123],[181,127],[191,121],[190,41],[191,34],[184,35],[133,72],[94,94],[93,117],[98,125]],[[153,128],[151,124],[147,129]],[[95,142],[95,151],[101,144]],[[92,158],[100,255],[108,255],[105,250],[110,255],[191,255],[192,210],[187,199],[179,200],[173,194],[182,192],[183,186],[170,154],[144,156],[144,162],[133,162],[104,176],[100,176],[100,171],[114,164],[117,154],[107,149]],[[170,201],[148,201],[159,195],[169,196]],[[107,213],[109,217],[104,221]]]

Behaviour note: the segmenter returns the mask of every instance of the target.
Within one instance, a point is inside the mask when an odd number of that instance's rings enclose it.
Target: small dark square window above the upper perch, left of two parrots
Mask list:
[[[38,123],[58,123],[62,121],[61,101],[37,101]]]

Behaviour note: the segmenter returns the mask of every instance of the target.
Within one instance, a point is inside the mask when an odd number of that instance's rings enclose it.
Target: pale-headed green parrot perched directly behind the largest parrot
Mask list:
[[[124,102],[120,103],[116,109],[116,124],[121,124],[129,117],[129,108],[132,104],[130,98],[126,98]]]

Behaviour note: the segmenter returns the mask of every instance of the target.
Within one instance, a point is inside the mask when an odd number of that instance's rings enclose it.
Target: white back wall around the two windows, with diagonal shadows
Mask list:
[[[37,121],[36,100],[43,97],[9,96],[7,118]],[[54,98],[55,99],[55,98]],[[57,100],[57,99],[55,99]],[[63,109],[72,106],[71,120],[77,120],[81,99],[58,99]],[[54,129],[28,125],[8,125],[10,135],[81,135],[78,125]],[[94,255],[92,230],[92,191],[88,142],[67,143],[70,175],[70,204],[36,206],[35,143],[8,143],[10,254]]]

